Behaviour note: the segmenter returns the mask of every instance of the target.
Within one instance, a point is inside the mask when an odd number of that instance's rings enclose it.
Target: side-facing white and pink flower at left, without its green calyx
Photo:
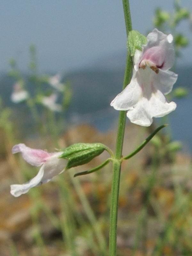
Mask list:
[[[30,181],[22,185],[11,185],[11,194],[15,197],[27,193],[30,188],[50,181],[55,175],[64,171],[67,164],[65,159],[59,158],[62,155],[62,152],[48,153],[41,149],[28,148],[22,143],[15,145],[12,148],[13,154],[18,152],[22,154],[22,157],[29,164],[41,166],[41,168],[38,174]]]

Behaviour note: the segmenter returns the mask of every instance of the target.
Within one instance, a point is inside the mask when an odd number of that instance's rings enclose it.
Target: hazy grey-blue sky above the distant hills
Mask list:
[[[192,11],[192,1],[181,5]],[[132,27],[146,34],[155,8],[171,10],[173,0],[130,0]],[[190,37],[188,24],[181,29]],[[27,69],[29,45],[35,44],[41,72],[66,72],[126,49],[122,1],[118,0],[2,0],[0,4],[0,71],[16,58]],[[192,63],[191,45],[180,65]]]

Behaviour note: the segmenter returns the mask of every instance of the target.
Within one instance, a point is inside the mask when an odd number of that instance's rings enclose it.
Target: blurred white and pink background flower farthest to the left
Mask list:
[[[13,85],[13,92],[11,94],[12,102],[19,103],[21,101],[27,100],[28,98],[28,92],[22,89],[22,86],[19,82],[15,83]]]

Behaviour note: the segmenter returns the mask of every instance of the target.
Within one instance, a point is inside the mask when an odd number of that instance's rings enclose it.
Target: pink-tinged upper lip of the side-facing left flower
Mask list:
[[[12,148],[12,154],[18,152],[21,152],[22,157],[25,159],[25,161],[35,166],[42,165],[49,157],[58,157],[62,154],[61,152],[48,153],[41,149],[28,148],[23,143],[17,144]]]

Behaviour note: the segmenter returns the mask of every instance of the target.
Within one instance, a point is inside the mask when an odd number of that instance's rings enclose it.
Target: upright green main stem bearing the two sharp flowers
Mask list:
[[[126,33],[132,30],[131,16],[129,10],[129,0],[123,0],[124,17]],[[123,89],[130,83],[132,75],[132,59],[127,53],[127,61],[124,74]],[[112,191],[111,191],[111,209],[110,209],[110,231],[109,231],[109,255],[116,256],[116,237],[117,237],[117,211],[119,200],[119,184],[121,173],[121,156],[123,149],[124,130],[125,130],[126,112],[120,111],[119,123],[116,140],[115,159],[113,161],[113,177],[112,177]]]

